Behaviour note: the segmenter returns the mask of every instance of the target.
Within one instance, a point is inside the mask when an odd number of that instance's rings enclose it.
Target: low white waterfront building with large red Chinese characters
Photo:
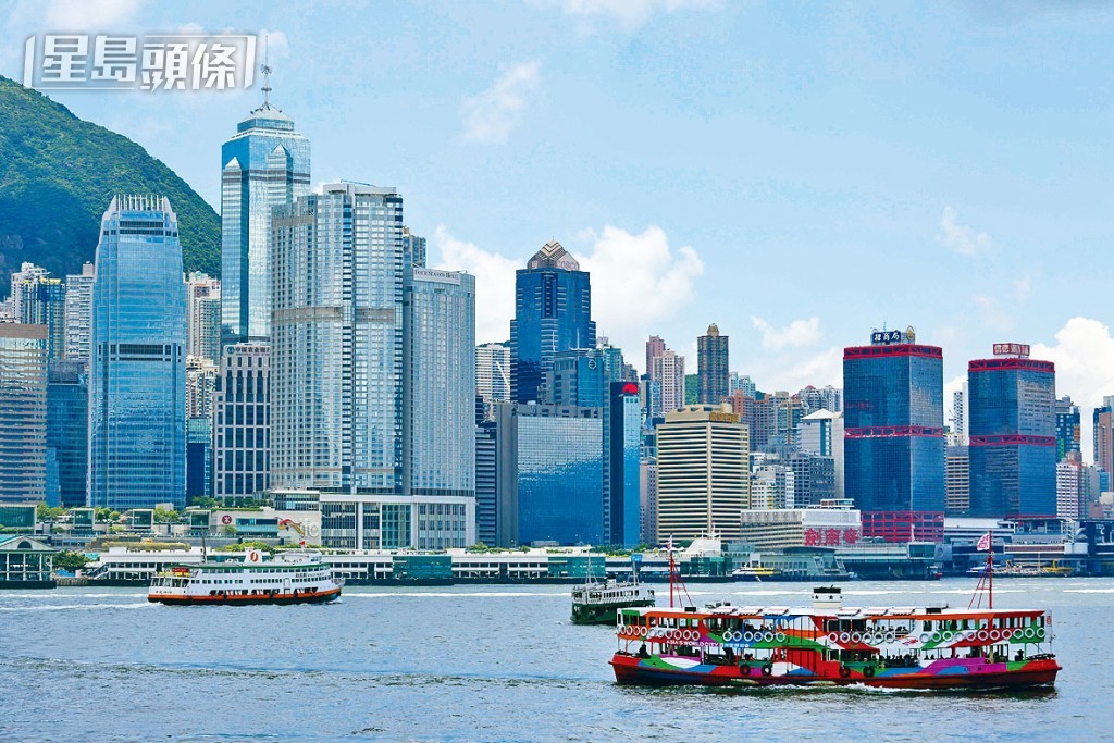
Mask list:
[[[811,508],[751,509],[740,514],[740,539],[758,550],[849,547],[862,539],[862,516],[842,499]]]

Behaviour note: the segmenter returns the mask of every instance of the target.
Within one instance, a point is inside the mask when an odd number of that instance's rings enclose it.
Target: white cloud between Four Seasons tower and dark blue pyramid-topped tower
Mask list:
[[[438,225],[433,245],[440,252],[436,268],[467,271],[476,276],[476,342],[490,343],[510,338],[515,314],[515,270],[525,262],[511,261],[485,251],[475,243],[457,239],[448,227]]]

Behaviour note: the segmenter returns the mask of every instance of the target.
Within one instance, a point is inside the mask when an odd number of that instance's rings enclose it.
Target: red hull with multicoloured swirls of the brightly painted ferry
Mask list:
[[[1001,668],[1020,665],[1017,668]],[[993,666],[993,667],[990,667]],[[883,675],[866,676],[851,672],[848,676],[836,673],[814,673],[795,668],[789,673],[764,672],[761,667],[746,668],[744,675],[737,666],[694,665],[692,668],[670,667],[662,658],[642,658],[617,653],[612,658],[615,681],[620,684],[651,686],[850,686],[853,684],[881,688],[948,690],[948,688],[1028,688],[1051,686],[1056,681],[1059,665],[1054,659],[1033,659],[1024,664],[986,664],[984,666],[952,665],[907,672],[892,669]]]

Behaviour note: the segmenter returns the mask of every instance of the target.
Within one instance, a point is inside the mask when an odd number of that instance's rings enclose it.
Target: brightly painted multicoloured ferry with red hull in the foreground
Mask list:
[[[618,620],[619,683],[1017,688],[1051,686],[1061,669],[1045,612],[844,608],[834,587],[815,588],[811,608],[623,609]]]

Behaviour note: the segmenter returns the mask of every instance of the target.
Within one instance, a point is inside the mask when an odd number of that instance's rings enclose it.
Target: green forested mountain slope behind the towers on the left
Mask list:
[[[221,274],[221,218],[185,180],[127,137],[0,77],[0,297],[23,261],[80,273],[114,194],[165,195],[185,270]]]

